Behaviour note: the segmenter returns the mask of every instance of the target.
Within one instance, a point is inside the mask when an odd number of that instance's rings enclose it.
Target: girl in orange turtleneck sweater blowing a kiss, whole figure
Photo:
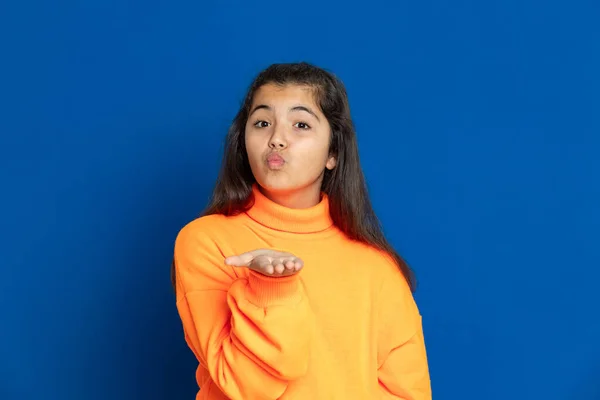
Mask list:
[[[196,399],[431,399],[413,276],[373,212],[332,74],[258,75],[174,253]]]

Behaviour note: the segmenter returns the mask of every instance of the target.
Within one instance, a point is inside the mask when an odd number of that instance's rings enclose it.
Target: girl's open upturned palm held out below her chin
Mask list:
[[[225,264],[248,267],[267,276],[293,275],[304,266],[304,262],[293,254],[268,249],[258,249],[227,257]]]

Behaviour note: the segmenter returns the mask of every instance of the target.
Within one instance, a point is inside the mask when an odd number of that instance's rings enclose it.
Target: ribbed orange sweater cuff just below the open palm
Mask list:
[[[250,270],[248,292],[248,300],[259,307],[301,299],[298,274],[272,277]]]

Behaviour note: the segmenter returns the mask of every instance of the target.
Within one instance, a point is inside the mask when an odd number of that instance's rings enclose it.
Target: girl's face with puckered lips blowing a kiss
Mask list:
[[[319,201],[331,128],[307,86],[266,84],[259,88],[246,123],[252,173],[267,197],[294,208]]]

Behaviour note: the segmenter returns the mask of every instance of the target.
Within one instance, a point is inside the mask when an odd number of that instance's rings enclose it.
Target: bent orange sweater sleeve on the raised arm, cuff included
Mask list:
[[[177,237],[177,309],[186,342],[228,398],[279,398],[308,369],[311,311],[299,274],[246,276],[224,258],[197,228]]]

